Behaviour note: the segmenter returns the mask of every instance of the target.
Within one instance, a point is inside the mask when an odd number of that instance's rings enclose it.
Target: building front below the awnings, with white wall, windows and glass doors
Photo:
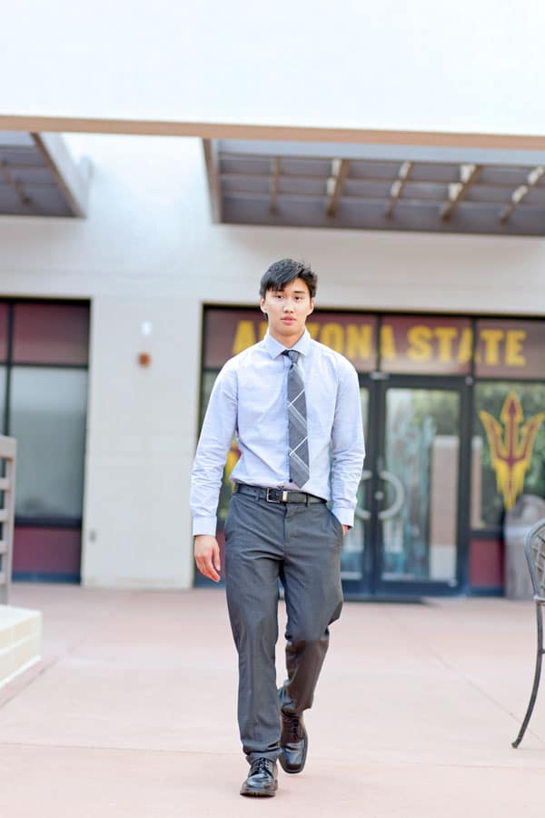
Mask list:
[[[293,256],[319,275],[311,333],[360,375],[346,593],[502,593],[505,510],[545,494],[545,240],[214,224],[201,140],[67,141],[94,165],[87,217],[0,219],[15,576],[193,585],[200,418]]]

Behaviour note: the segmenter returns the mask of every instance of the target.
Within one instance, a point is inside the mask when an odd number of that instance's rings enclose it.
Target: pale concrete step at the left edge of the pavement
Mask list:
[[[0,605],[0,687],[39,661],[42,613]]]

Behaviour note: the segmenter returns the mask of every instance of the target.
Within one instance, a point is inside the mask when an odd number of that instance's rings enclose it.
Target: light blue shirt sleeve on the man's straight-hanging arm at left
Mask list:
[[[193,536],[215,536],[223,467],[237,423],[237,379],[230,361],[213,384],[191,475]]]

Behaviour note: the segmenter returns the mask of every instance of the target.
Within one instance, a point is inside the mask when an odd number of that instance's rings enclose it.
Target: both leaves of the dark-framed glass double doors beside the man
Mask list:
[[[466,392],[458,378],[391,375],[362,384],[367,457],[343,546],[347,596],[460,589],[469,503],[461,444]]]

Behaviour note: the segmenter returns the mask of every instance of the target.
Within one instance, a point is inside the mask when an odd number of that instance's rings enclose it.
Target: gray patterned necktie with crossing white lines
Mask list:
[[[309,445],[306,421],[306,400],[304,384],[297,366],[301,353],[295,349],[286,349],[292,365],[288,371],[288,432],[290,437],[290,480],[302,486],[309,479]]]

